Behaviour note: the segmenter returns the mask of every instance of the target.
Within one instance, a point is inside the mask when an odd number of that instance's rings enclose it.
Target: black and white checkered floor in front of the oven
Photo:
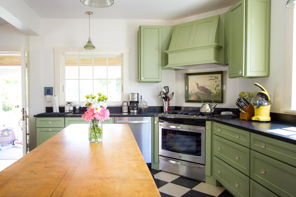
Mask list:
[[[149,168],[162,197],[233,197],[223,187]]]

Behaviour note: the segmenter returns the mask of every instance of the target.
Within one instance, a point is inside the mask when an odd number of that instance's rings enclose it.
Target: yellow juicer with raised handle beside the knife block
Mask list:
[[[261,91],[257,93],[252,101],[255,113],[252,120],[260,122],[270,121],[270,97],[264,87],[258,83],[254,83],[254,85],[259,87]]]

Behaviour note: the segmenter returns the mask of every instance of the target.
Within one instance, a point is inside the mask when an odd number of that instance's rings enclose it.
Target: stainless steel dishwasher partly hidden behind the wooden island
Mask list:
[[[115,117],[115,124],[128,124],[146,163],[151,163],[151,117]]]

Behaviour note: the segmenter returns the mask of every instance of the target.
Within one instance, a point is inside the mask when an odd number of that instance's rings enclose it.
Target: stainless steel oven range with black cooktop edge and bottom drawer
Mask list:
[[[158,115],[160,170],[205,181],[205,119]]]

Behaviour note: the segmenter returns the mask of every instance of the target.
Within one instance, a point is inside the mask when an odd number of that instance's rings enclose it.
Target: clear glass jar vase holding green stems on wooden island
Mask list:
[[[100,120],[89,121],[89,141],[100,142],[103,140],[103,123]]]

